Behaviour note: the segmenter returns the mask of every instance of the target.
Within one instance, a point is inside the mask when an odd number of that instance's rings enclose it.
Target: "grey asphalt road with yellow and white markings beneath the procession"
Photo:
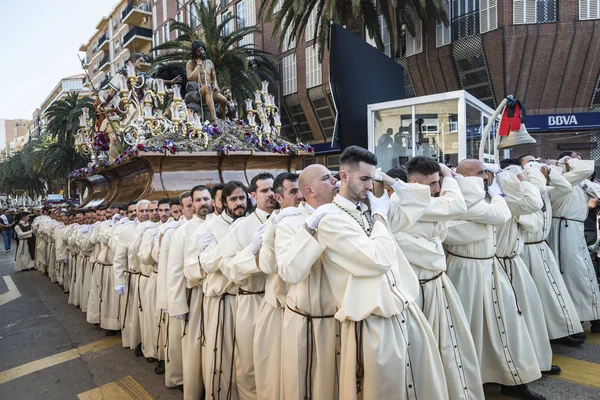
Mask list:
[[[0,253],[1,399],[181,399],[154,364],[88,324],[67,295],[39,271],[14,271],[14,249]],[[549,400],[600,399],[600,335],[580,348],[554,346],[558,377],[531,387]],[[487,399],[505,399],[486,385]]]

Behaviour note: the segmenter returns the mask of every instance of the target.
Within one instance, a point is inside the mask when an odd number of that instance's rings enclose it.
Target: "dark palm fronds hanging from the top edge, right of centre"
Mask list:
[[[281,4],[281,11],[275,7]],[[325,43],[329,43],[329,22],[340,25],[353,25],[362,16],[364,27],[379,50],[383,50],[379,15],[383,16],[390,31],[390,46],[394,58],[402,57],[401,40],[403,27],[415,33],[415,17],[424,25],[443,21],[448,23],[443,0],[263,0],[259,9],[259,18],[274,20],[272,37],[281,35],[279,46],[285,37],[290,41],[304,35],[304,31],[313,11],[316,11],[315,30],[309,32],[319,45],[319,61],[323,61]]]

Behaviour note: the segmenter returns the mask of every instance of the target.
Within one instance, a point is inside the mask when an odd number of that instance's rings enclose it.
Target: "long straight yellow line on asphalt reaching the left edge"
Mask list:
[[[106,339],[99,340],[94,343],[86,344],[85,346],[78,347],[76,349],[67,350],[62,353],[55,354],[41,358],[36,361],[29,362],[27,364],[19,365],[18,367],[7,369],[6,371],[0,372],[0,385],[6,382],[10,382],[14,379],[20,378],[25,375],[32,374],[34,372],[53,367],[58,364],[62,364],[67,361],[75,360],[84,354],[95,353],[109,347],[121,344],[120,337],[109,337]]]

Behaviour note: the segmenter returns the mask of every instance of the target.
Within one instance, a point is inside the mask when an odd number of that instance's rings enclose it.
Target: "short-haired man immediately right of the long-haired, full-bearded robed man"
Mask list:
[[[262,172],[250,181],[250,196],[256,210],[237,223],[222,238],[219,268],[239,286],[235,314],[235,371],[240,399],[256,398],[253,340],[258,309],[265,294],[265,274],[257,265],[267,219],[277,207],[273,175]]]

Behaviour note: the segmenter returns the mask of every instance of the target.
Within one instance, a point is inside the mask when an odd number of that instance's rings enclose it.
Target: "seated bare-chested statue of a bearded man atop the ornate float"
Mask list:
[[[192,57],[191,60],[186,63],[185,69],[188,81],[198,82],[201,103],[208,106],[210,120],[214,121],[217,119],[215,102],[219,105],[219,113],[225,118],[227,99],[220,93],[215,66],[213,62],[208,59],[204,42],[200,40],[194,40],[192,42]]]

